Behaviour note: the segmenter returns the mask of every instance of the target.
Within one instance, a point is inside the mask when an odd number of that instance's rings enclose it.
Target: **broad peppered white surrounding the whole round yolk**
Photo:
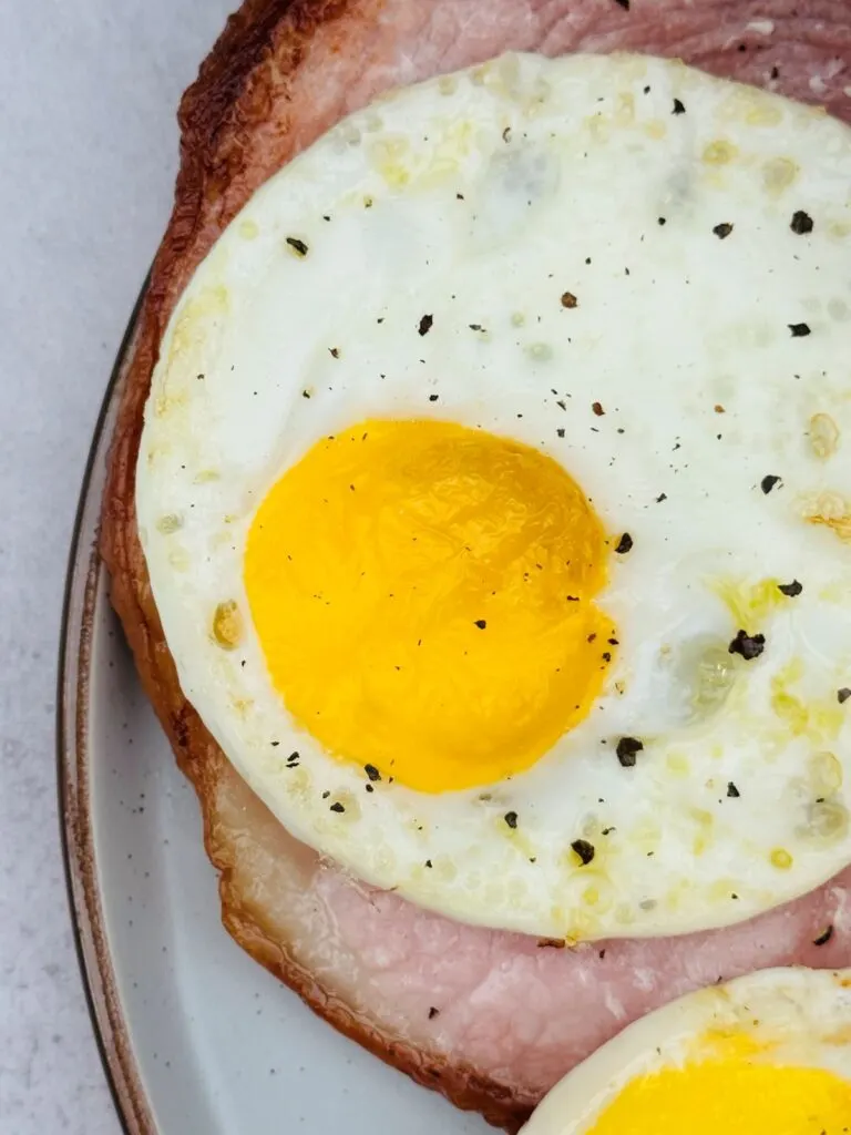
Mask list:
[[[675,62],[508,56],[354,115],[227,228],[162,342],[136,507],[183,690],[294,835],[453,917],[568,939],[728,924],[851,860],[851,549],[807,520],[851,484],[850,140]],[[248,609],[269,487],[370,415],[540,447],[633,538],[599,596],[604,696],[511,781],[368,794],[294,725],[250,621],[237,650],[210,634],[219,603]],[[728,654],[740,628],[759,658]]]

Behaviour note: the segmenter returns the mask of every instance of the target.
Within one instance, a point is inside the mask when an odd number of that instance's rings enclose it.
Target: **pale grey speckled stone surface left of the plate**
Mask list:
[[[165,225],[175,108],[235,0],[0,3],[0,1135],[116,1135],[56,816],[79,480]]]

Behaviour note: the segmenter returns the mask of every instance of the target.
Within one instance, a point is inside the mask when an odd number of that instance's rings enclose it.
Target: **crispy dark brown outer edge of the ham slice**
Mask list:
[[[479,1111],[495,1126],[514,1132],[528,1118],[529,1108],[508,1090],[473,1068],[449,1063],[394,1040],[356,1016],[332,992],[322,989],[246,909],[233,880],[235,850],[221,838],[217,824],[217,787],[230,770],[180,692],[136,530],[136,456],[161,335],[186,278],[254,187],[239,140],[263,124],[272,89],[287,83],[302,65],[304,45],[317,27],[338,23],[343,34],[346,20],[370,18],[369,3],[371,0],[366,6],[361,0],[246,0],[228,20],[199,78],[180,102],[180,171],[175,205],[152,269],[121,393],[107,471],[100,550],[111,578],[111,602],[124,624],[144,689],[180,768],[197,792],[207,852],[220,873],[227,930],[253,958],[342,1033],[420,1084],[443,1092],[457,1107]],[[273,72],[264,66],[272,61]],[[210,225],[209,219],[204,221],[203,210],[224,200],[226,188],[228,202]],[[209,232],[204,232],[204,224]]]

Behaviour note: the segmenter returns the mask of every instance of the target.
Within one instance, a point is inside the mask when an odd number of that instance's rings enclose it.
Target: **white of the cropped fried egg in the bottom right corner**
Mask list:
[[[672,1001],[561,1079],[524,1135],[582,1135],[631,1081],[694,1060],[701,1037],[711,1034],[753,1041],[767,1050],[760,1062],[823,1068],[851,1081],[851,969],[762,969]]]

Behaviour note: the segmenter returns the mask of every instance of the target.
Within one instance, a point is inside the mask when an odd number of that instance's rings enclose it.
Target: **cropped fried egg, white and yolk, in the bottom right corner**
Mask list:
[[[565,1076],[525,1135],[845,1135],[851,969],[764,969],[625,1028]]]

